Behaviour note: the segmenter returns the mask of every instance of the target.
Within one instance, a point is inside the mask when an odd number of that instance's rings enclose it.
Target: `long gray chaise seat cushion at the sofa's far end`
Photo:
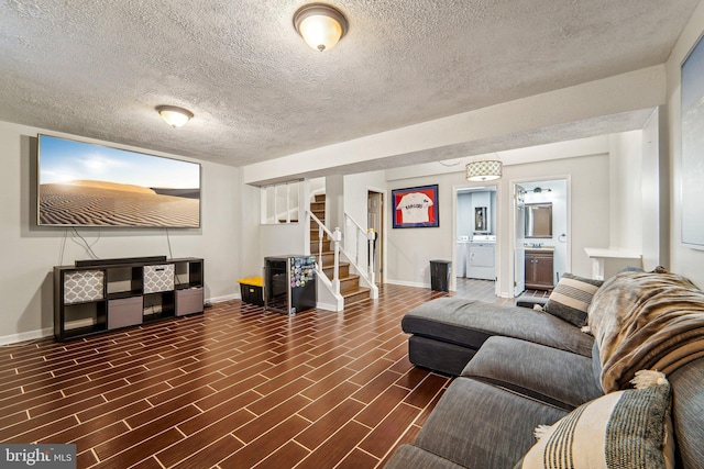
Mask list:
[[[479,349],[494,335],[535,342],[591,357],[593,338],[558,317],[527,308],[439,298],[406,313],[408,334]]]

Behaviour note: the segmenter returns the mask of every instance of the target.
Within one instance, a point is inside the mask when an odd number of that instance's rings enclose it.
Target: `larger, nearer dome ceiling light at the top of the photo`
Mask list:
[[[329,51],[348,32],[348,20],[337,9],[324,3],[309,3],[294,14],[294,27],[310,47]]]

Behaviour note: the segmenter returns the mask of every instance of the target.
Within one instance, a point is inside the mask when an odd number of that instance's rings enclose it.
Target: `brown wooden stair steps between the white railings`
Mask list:
[[[326,222],[326,194],[316,194],[314,202],[310,202],[310,211],[323,224]],[[334,253],[331,248],[331,241],[327,237],[322,242],[318,241],[318,227],[310,226],[310,253],[315,256],[318,254],[319,243],[322,243],[322,259],[318,263],[322,267],[322,271],[329,279],[333,277]],[[360,276],[350,273],[350,263],[340,261],[340,294],[344,298],[344,305],[358,303],[370,299],[370,289],[360,287]]]

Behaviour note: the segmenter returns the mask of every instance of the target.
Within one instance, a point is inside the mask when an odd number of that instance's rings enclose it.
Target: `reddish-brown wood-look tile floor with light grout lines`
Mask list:
[[[464,298],[506,302],[471,282]],[[376,302],[292,317],[235,300],[3,346],[0,442],[74,443],[79,468],[383,467],[449,383],[408,362],[400,317],[446,294],[384,286]]]

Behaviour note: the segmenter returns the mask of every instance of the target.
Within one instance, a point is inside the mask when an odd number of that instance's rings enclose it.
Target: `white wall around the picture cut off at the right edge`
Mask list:
[[[704,32],[704,2],[700,3],[680,35],[666,64],[668,83],[668,130],[670,135],[670,261],[671,270],[704,288],[704,250],[682,245],[682,119],[681,65]]]

